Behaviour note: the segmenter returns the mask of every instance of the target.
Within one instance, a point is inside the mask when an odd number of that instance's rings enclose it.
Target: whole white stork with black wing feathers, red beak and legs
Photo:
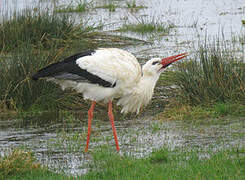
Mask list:
[[[112,101],[122,106],[121,113],[139,113],[152,98],[160,74],[173,62],[185,58],[188,53],[161,58],[152,58],[142,67],[130,52],[118,48],[97,48],[74,54],[63,61],[44,67],[32,75],[33,80],[46,79],[61,86],[62,90],[73,89],[91,100],[88,110],[88,130],[85,152],[88,151],[91,122],[96,102],[108,104],[116,150],[119,151],[114,125]]]

